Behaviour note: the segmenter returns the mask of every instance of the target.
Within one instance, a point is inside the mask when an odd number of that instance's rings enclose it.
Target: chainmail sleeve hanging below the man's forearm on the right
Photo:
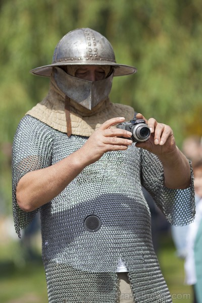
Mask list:
[[[191,184],[186,189],[170,189],[164,186],[163,166],[158,157],[141,150],[142,185],[154,198],[157,206],[171,225],[187,225],[193,221],[195,214],[193,172],[191,169]]]

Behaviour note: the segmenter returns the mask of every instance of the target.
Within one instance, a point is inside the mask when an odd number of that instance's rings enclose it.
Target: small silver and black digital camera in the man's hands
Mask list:
[[[143,119],[132,119],[128,122],[122,122],[117,128],[128,130],[132,133],[133,142],[143,142],[150,137],[150,129]]]

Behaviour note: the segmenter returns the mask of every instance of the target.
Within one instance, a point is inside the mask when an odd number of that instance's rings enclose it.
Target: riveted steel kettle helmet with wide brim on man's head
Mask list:
[[[30,72],[49,77],[53,67],[66,65],[110,65],[114,67],[114,76],[137,71],[135,67],[117,64],[111,43],[90,28],[78,28],[67,33],[55,48],[52,64],[37,67]]]

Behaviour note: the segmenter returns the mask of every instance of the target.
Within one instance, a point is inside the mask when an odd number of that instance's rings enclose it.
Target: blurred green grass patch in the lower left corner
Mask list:
[[[0,244],[0,302],[47,303],[45,273],[39,254],[25,261],[20,241]]]

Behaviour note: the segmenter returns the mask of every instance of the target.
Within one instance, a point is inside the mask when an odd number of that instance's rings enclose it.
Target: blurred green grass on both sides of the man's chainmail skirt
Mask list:
[[[25,261],[22,255],[19,241],[0,244],[0,302],[47,303],[45,273],[40,256],[31,262]],[[176,257],[169,234],[161,236],[158,258],[173,303],[191,303],[191,288],[184,285],[184,262]]]

